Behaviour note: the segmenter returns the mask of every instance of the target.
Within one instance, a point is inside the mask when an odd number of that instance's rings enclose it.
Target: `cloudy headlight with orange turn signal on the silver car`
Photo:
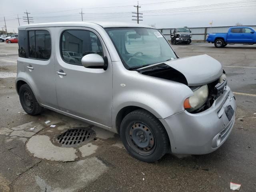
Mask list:
[[[193,93],[193,96],[186,98],[186,100],[184,101],[184,108],[188,112],[193,112],[194,110],[197,110],[205,104],[209,95],[208,86],[204,85],[196,88],[195,90],[193,90]]]

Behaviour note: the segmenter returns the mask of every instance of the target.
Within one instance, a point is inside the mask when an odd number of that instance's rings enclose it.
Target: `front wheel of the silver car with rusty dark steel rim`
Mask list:
[[[168,151],[169,142],[160,121],[146,110],[127,114],[120,126],[124,147],[134,158],[156,162]]]

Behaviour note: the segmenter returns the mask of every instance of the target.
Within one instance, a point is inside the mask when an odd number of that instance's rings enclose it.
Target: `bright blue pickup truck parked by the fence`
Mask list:
[[[228,33],[209,33],[207,42],[214,43],[216,48],[227,44],[256,44],[256,31],[251,27],[230,27]]]

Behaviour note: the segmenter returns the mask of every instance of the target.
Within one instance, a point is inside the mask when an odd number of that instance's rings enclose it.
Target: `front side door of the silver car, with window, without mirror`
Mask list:
[[[112,63],[104,42],[89,28],[56,28],[56,94],[59,109],[112,126]],[[85,68],[81,59],[96,53],[108,58],[108,68]]]

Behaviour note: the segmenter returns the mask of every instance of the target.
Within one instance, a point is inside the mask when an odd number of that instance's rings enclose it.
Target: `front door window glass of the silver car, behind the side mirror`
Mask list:
[[[61,36],[62,59],[74,65],[82,65],[82,57],[99,54],[103,57],[102,44],[98,36],[87,30],[65,30]]]

